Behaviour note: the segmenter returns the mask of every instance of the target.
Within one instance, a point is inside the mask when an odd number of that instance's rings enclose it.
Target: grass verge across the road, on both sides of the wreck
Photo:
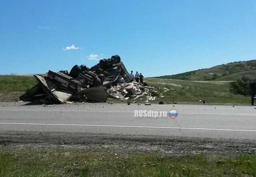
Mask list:
[[[250,97],[230,93],[228,82],[183,81],[156,78],[146,78],[145,82],[149,86],[158,88],[158,91],[165,96],[164,99],[158,99],[156,101],[195,103],[200,99],[205,99],[206,103],[250,104]],[[32,88],[35,84],[36,79],[32,76],[0,76],[0,100],[8,101],[18,99],[20,95]],[[164,91],[164,88],[169,90]]]

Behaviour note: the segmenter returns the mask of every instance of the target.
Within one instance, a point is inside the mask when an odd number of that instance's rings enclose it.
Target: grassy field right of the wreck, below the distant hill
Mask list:
[[[230,93],[228,82],[220,81],[184,81],[170,79],[146,78],[145,82],[161,92],[164,101],[206,103],[250,103],[250,97]],[[164,91],[164,88],[169,91]]]

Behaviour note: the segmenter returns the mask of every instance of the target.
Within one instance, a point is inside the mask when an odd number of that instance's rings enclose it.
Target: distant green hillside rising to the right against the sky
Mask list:
[[[159,76],[154,78],[176,79],[176,80],[202,80],[202,81],[232,81],[242,76],[256,78],[256,60],[244,62],[232,62],[214,66],[212,68],[200,69],[181,74]]]

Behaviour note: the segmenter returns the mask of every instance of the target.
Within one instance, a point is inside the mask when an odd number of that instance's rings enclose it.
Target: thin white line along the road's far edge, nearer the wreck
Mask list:
[[[57,109],[0,109],[0,111],[59,111],[59,112],[114,112],[114,113],[134,113],[134,111],[90,111],[90,110],[57,110]],[[160,111],[158,111],[160,112]],[[169,111],[167,111],[169,112]],[[234,113],[189,113],[178,112],[178,114],[201,114],[201,115],[248,115],[256,116],[256,114],[234,114]]]

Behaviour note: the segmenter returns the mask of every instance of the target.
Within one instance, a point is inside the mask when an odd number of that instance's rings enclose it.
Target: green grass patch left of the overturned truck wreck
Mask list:
[[[36,84],[36,79],[32,76],[0,76],[0,93],[27,91]]]

